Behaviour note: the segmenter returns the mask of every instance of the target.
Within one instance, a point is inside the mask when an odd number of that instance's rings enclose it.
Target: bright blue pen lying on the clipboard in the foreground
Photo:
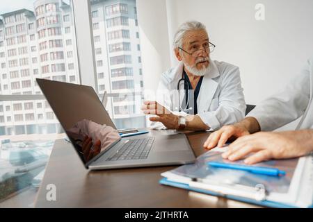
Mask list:
[[[240,164],[230,164],[225,162],[208,162],[211,167],[220,167],[225,169],[239,169],[242,171],[248,171],[249,173],[263,174],[267,176],[284,176],[285,171],[280,171],[280,169],[271,168],[271,167],[253,167]]]

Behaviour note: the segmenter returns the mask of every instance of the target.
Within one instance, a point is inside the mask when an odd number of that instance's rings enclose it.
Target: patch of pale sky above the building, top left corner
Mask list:
[[[1,0],[0,15],[13,12],[22,8],[33,11],[33,2],[35,0]]]

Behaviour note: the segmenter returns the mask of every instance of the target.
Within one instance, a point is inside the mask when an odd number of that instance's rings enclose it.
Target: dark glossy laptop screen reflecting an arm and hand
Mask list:
[[[118,142],[120,135],[93,87],[36,80],[85,167]]]

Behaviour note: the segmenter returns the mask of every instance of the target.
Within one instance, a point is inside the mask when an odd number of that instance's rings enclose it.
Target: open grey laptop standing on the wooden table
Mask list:
[[[170,166],[195,161],[186,135],[120,137],[93,87],[36,78],[86,169]]]

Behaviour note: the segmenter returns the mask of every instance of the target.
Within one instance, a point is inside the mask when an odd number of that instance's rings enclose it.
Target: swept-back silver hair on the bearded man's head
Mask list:
[[[204,30],[207,32],[207,29],[205,28],[204,24],[197,21],[184,22],[181,26],[179,26],[177,32],[174,35],[174,40],[172,42],[173,48],[177,49],[178,47],[182,47],[182,39],[184,38],[186,32],[195,30]]]

